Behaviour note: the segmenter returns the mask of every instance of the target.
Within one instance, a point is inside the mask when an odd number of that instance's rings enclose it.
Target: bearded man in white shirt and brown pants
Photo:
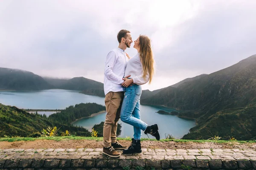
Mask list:
[[[116,158],[120,156],[115,149],[126,149],[127,146],[122,146],[116,142],[117,122],[120,119],[120,111],[124,91],[122,88],[122,79],[125,75],[125,68],[128,62],[128,57],[125,54],[125,49],[131,46],[131,32],[122,29],[117,34],[119,46],[108,53],[105,62],[104,71],[104,92],[106,105],[106,119],[103,126],[103,154]],[[127,78],[130,76],[127,76]]]

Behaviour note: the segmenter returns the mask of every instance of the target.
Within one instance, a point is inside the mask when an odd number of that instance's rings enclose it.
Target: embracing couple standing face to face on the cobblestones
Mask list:
[[[104,92],[106,105],[106,119],[103,127],[103,154],[110,157],[119,157],[116,149],[127,153],[140,153],[140,137],[142,130],[160,139],[157,124],[147,125],[140,119],[141,85],[151,83],[154,74],[154,58],[151,41],[145,35],[140,35],[134,41],[134,48],[138,53],[129,57],[125,53],[132,41],[131,32],[120,30],[117,34],[119,46],[108,53],[104,71]],[[134,138],[129,147],[116,141],[117,122],[134,127]]]

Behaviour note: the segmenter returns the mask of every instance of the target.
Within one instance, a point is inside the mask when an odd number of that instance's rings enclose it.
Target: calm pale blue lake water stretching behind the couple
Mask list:
[[[90,96],[79,94],[79,91],[69,91],[60,89],[51,89],[44,91],[0,91],[0,103],[3,105],[16,106],[23,109],[65,109],[70,105],[79,103],[95,102],[105,105],[104,98],[98,96]],[[170,108],[151,107],[141,105],[140,113],[141,119],[148,125],[154,123],[158,124],[160,138],[164,139],[165,135],[172,134],[176,138],[181,138],[189,132],[191,127],[195,126],[194,120],[181,119],[177,116],[163,115],[156,113],[159,110],[171,112]],[[38,112],[46,113],[47,116],[54,112]],[[106,113],[101,113],[96,116],[80,119],[73,123],[73,125],[83,126],[89,131],[95,124],[99,124],[105,120]],[[133,137],[133,127],[119,120],[122,125],[122,132],[119,137]],[[148,135],[150,138],[152,136]],[[148,138],[144,133],[142,138]]]

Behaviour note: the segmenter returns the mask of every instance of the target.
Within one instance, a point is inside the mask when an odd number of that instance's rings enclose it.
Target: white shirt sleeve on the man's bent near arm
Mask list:
[[[106,62],[105,62],[105,70],[104,74],[107,79],[110,79],[112,82],[116,84],[122,84],[124,80],[122,77],[117,76],[113,73],[113,66],[116,64],[116,53],[114,51],[110,51],[108,53]]]

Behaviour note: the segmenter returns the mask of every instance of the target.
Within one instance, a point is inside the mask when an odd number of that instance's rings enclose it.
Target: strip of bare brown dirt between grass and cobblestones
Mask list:
[[[123,145],[129,146],[131,141],[119,140]],[[35,140],[35,141],[17,141],[17,142],[0,142],[0,149],[41,149],[41,148],[102,148],[103,142],[92,140]],[[253,149],[256,150],[256,143],[241,144],[238,142],[214,143],[214,142],[159,142],[143,141],[142,148],[148,149]]]

